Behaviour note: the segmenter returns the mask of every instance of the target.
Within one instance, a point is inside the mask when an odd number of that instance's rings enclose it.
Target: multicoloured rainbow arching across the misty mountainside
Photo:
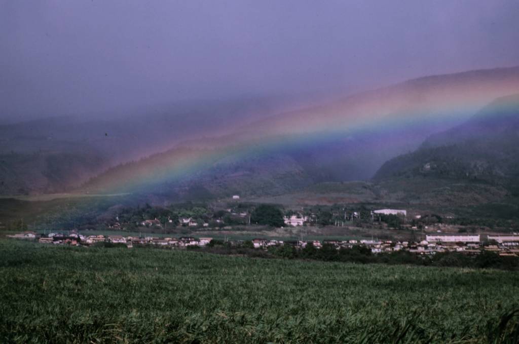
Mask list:
[[[519,68],[497,75],[493,71],[486,73],[411,80],[270,117],[237,128],[234,135],[192,141],[155,154],[143,160],[145,163],[113,168],[93,178],[82,191],[139,191],[150,185],[196,177],[227,160],[347,142],[352,137],[371,140],[382,148],[397,147],[409,136],[423,132],[423,128],[431,132],[452,128],[493,100],[519,93]],[[499,113],[498,106],[513,105],[489,106],[496,106]]]

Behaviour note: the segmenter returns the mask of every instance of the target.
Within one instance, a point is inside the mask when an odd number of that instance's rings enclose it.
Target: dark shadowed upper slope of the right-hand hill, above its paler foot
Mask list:
[[[402,177],[484,182],[518,194],[519,95],[500,98],[415,152],[387,161],[374,179]]]

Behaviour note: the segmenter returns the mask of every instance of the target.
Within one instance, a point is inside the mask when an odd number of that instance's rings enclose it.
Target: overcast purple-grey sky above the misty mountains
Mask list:
[[[519,64],[519,1],[0,0],[0,118]]]

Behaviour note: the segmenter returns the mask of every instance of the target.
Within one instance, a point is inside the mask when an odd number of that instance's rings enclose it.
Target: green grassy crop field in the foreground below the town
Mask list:
[[[0,256],[0,342],[486,343],[519,335],[517,272],[7,239]]]

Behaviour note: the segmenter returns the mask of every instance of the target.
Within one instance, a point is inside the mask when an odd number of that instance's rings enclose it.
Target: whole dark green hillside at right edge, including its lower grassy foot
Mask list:
[[[501,203],[519,211],[519,96],[498,99],[415,152],[387,161],[374,181],[399,185],[412,202]]]

